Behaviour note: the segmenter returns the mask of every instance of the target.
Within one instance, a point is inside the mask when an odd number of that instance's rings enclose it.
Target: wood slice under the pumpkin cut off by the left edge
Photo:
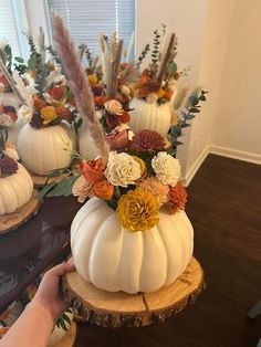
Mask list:
[[[38,190],[33,190],[32,198],[20,209],[12,213],[0,215],[0,234],[15,230],[21,224],[25,223],[30,217],[35,215],[41,207],[41,200],[35,199]]]

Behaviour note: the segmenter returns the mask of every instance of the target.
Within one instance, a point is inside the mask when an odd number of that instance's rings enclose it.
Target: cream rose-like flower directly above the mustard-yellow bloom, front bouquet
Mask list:
[[[127,187],[140,178],[140,165],[126,153],[111,151],[105,176],[113,186]]]

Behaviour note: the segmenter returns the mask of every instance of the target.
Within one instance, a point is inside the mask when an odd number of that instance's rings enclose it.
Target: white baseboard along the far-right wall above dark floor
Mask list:
[[[217,145],[211,145],[209,147],[209,153],[222,157],[228,157],[232,159],[243,160],[248,162],[261,165],[261,155],[252,154],[249,151],[237,150],[229,147],[222,147]]]

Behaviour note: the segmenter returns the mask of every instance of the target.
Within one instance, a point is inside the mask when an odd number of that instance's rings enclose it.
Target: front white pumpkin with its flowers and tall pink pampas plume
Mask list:
[[[105,291],[156,291],[174,282],[192,255],[194,230],[184,211],[179,161],[154,130],[137,132],[121,151],[109,151],[88,78],[56,15],[53,29],[58,56],[98,153],[75,168],[73,193],[82,202],[88,199],[71,227],[76,270]],[[62,188],[54,191],[59,194]]]

